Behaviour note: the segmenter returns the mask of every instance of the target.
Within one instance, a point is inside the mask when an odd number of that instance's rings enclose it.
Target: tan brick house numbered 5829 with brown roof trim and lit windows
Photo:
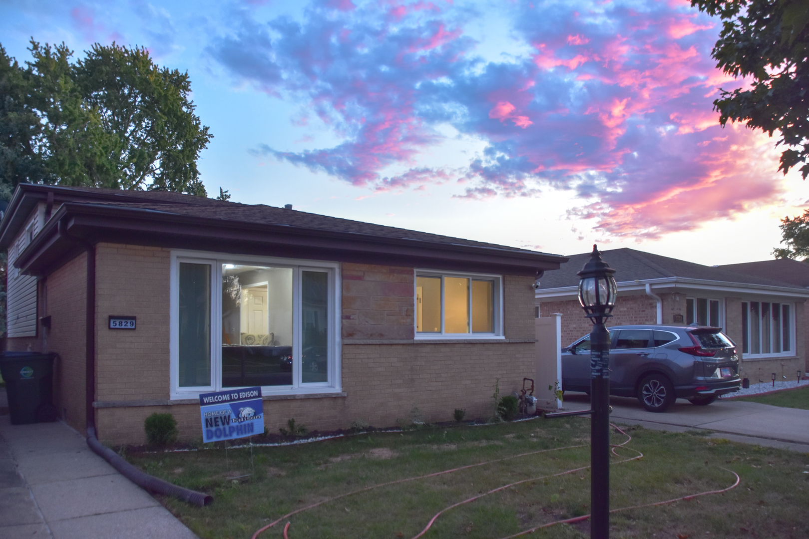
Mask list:
[[[54,404],[108,444],[260,385],[270,432],[490,413],[532,377],[537,272],[564,257],[261,204],[21,184],[0,223],[11,351],[56,352]],[[134,317],[134,330],[111,329]]]

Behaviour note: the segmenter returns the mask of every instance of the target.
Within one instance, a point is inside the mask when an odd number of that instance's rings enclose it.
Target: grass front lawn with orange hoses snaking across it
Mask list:
[[[261,534],[293,539],[407,537],[453,503],[512,482],[518,486],[446,512],[424,537],[497,539],[540,524],[587,514],[589,420],[535,419],[481,427],[373,433],[286,447],[186,453],[126,453],[142,470],[210,492],[210,507],[161,498],[203,539],[248,538],[286,513],[367,486],[496,461],[451,474],[346,495],[282,520]],[[633,428],[612,457],[611,507],[629,507],[740,485],[663,507],[612,515],[611,537],[807,537],[809,455],[735,444],[691,433]],[[625,436],[615,433],[613,443]],[[578,447],[575,447],[578,446]],[[544,451],[544,453],[536,453]],[[642,452],[640,460],[618,461]],[[532,453],[516,457],[524,453]],[[513,457],[513,458],[509,458]],[[724,470],[724,469],[726,470]],[[531,537],[589,537],[588,524],[557,525]],[[750,533],[755,532],[752,536]],[[657,534],[654,536],[654,534]]]

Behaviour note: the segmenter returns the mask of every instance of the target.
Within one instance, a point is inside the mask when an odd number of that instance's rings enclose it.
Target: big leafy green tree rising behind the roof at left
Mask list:
[[[32,40],[29,50],[22,68],[0,48],[9,103],[0,109],[0,181],[206,196],[197,158],[213,136],[194,114],[187,73],[115,43],[94,44],[75,63],[65,44]]]

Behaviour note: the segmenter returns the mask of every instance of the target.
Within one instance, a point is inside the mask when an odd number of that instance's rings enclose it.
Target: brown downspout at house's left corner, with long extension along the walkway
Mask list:
[[[87,414],[87,445],[92,449],[93,453],[108,461],[121,475],[145,491],[175,496],[200,507],[210,505],[214,501],[213,496],[190,491],[182,486],[172,485],[172,483],[165,482],[163,479],[155,478],[153,475],[145,474],[121,458],[112,449],[104,447],[96,437],[95,407],[93,406],[95,401],[95,245],[84,238],[78,238],[70,234],[64,221],[59,221],[58,231],[59,234],[73,238],[87,251],[87,323],[85,324],[87,331],[84,335],[85,349],[87,351],[85,360],[87,385],[84,391]]]

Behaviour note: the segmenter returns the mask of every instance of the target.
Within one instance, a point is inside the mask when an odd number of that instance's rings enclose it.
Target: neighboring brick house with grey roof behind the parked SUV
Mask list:
[[[544,275],[536,291],[537,314],[562,314],[563,346],[591,331],[578,303],[576,275],[589,257],[570,256],[559,271]],[[772,373],[794,380],[798,369],[807,372],[809,288],[800,279],[809,284],[809,275],[793,265],[807,264],[773,260],[709,267],[634,249],[602,251],[602,258],[616,270],[618,284],[608,326],[718,326],[737,344],[742,376],[752,384],[770,381]]]

